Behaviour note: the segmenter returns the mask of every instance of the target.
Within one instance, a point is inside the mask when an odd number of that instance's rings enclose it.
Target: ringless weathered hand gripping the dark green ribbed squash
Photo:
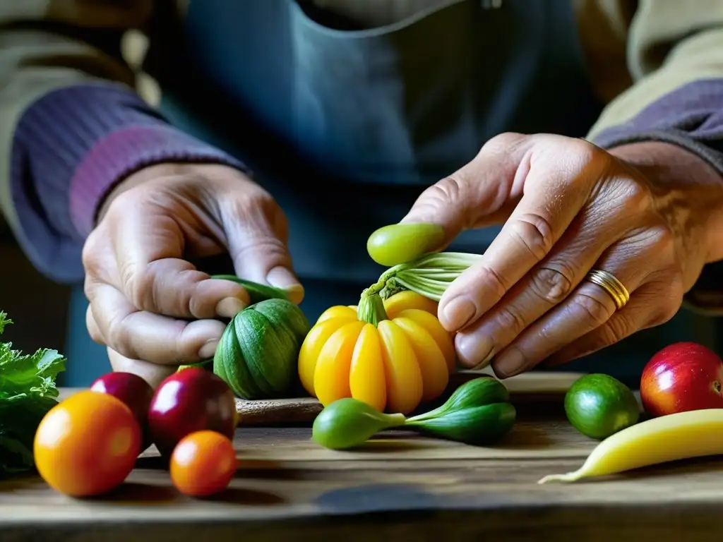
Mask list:
[[[303,289],[286,249],[286,218],[272,197],[223,165],[156,165],[129,176],[106,199],[83,250],[91,337],[116,371],[155,385],[213,356],[248,293],[187,262],[228,251],[236,274]]]

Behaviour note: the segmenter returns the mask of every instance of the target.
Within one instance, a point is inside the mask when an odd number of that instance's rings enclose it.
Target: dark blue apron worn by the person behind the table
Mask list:
[[[369,233],[401,219],[487,139],[507,131],[582,137],[598,116],[570,0],[494,5],[446,1],[364,29],[302,1],[194,0],[183,36],[166,44],[176,64],[159,53],[163,112],[244,160],[286,212],[309,319],[356,302],[382,271],[367,255]],[[204,83],[189,89],[189,80]],[[497,231],[467,231],[450,249],[482,252]],[[71,332],[79,357],[90,352],[80,296]],[[704,323],[681,313],[563,369],[636,384],[657,348],[709,342]],[[107,370],[98,365],[94,373]]]

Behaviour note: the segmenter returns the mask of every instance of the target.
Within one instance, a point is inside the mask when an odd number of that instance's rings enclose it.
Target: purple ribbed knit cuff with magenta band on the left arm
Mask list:
[[[244,165],[168,124],[123,85],[54,90],[25,111],[14,132],[10,193],[21,246],[59,282],[82,280],[82,243],[108,190],[163,162]]]

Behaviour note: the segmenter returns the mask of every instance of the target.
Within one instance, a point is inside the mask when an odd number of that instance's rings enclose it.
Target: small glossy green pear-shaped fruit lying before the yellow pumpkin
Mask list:
[[[403,414],[381,413],[363,401],[347,397],[335,400],[319,413],[312,427],[312,439],[326,448],[347,449],[403,423]]]

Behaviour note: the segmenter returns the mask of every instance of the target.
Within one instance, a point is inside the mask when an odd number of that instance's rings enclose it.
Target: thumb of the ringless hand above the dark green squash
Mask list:
[[[236,275],[286,290],[295,304],[304,298],[286,246],[288,224],[275,200],[262,189],[231,195],[222,203],[221,222]]]

